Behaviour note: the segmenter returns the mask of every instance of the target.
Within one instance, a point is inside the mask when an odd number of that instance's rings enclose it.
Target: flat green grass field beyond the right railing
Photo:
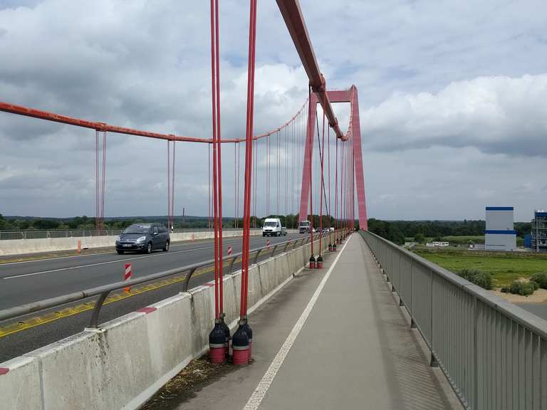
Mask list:
[[[533,273],[547,272],[547,254],[531,252],[486,252],[464,249],[413,250],[422,258],[454,273],[464,268],[489,272],[494,278],[494,287],[509,285],[513,280],[528,278]]]

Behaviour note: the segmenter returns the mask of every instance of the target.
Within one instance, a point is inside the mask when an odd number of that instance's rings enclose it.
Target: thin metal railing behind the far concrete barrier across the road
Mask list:
[[[251,231],[257,231],[261,228],[251,228]],[[241,228],[222,228],[223,231],[241,231]],[[208,228],[179,228],[172,233],[184,232],[207,232],[212,231]],[[48,231],[0,231],[0,241],[13,239],[46,239],[46,238],[85,238],[88,236],[117,236],[123,232],[123,229],[49,229]]]

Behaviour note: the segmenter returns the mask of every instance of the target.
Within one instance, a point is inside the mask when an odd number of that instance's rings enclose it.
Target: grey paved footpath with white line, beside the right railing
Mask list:
[[[462,409],[358,234],[251,315],[254,363],[178,409]]]

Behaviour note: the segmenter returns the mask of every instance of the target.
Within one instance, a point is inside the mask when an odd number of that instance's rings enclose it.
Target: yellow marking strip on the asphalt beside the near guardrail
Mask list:
[[[236,259],[235,263],[238,263],[238,262],[241,262],[241,257]],[[223,266],[229,266],[229,261],[224,262]],[[213,271],[214,271],[214,266],[198,269],[196,270],[192,278],[195,278],[199,275],[204,275],[205,273],[209,273]],[[150,292],[150,290],[156,290],[159,288],[164,288],[167,285],[172,285],[174,283],[182,282],[184,278],[186,278],[186,274],[176,275],[170,279],[163,279],[158,282],[150,283],[148,285],[132,288],[130,293],[126,293],[126,292],[114,293],[113,295],[110,295],[108,296],[108,298],[106,298],[104,305],[118,302],[119,300],[130,298],[131,296],[140,295],[141,293]],[[17,333],[17,332],[22,332],[23,330],[31,329],[32,327],[45,325],[46,323],[49,323],[49,322],[54,322],[56,320],[63,319],[63,317],[78,315],[78,313],[87,312],[88,310],[92,310],[94,307],[95,307],[95,302],[81,303],[80,305],[71,306],[69,308],[65,308],[62,310],[56,310],[55,312],[49,312],[49,313],[46,313],[45,315],[30,317],[21,322],[14,322],[4,327],[0,327],[0,338],[8,336],[8,335],[13,335],[14,333]]]

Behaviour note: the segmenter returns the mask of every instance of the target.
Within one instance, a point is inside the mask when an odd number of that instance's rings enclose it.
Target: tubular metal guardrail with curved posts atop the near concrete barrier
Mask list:
[[[333,236],[340,235],[340,232],[330,233]],[[328,237],[329,233],[323,233],[323,238]],[[314,240],[319,238],[314,236]],[[254,263],[258,261],[259,255],[262,256],[273,256],[277,249],[283,249],[283,252],[287,251],[289,246],[296,248],[297,246],[304,246],[310,242],[310,237],[306,236],[305,238],[293,239],[291,241],[284,241],[281,243],[276,243],[269,246],[262,246],[261,248],[251,249],[251,254],[254,253]],[[236,253],[231,256],[225,256],[222,261],[223,263],[229,261],[229,273],[231,273],[232,268],[236,260],[241,257],[241,252]],[[167,276],[177,275],[179,273],[187,273],[184,278],[184,283],[182,285],[182,290],[187,292],[189,288],[189,282],[192,279],[192,275],[199,270],[199,268],[205,268],[207,266],[214,265],[214,260],[193,263],[192,265],[183,266],[181,268],[174,268],[170,270],[165,270],[163,272],[153,273],[152,275],[142,276],[142,278],[135,278],[126,281],[112,283],[110,285],[98,286],[96,288],[91,288],[87,290],[80,290],[79,292],[70,293],[68,295],[61,295],[56,298],[49,298],[45,300],[40,300],[38,302],[28,303],[26,305],[16,306],[14,308],[9,308],[5,310],[0,310],[0,321],[14,319],[22,315],[28,315],[29,313],[38,312],[40,310],[46,310],[49,308],[55,308],[60,305],[65,305],[66,303],[72,303],[78,300],[93,298],[98,296],[98,300],[95,303],[93,308],[93,313],[91,315],[90,327],[97,327],[98,317],[100,314],[100,309],[103,307],[108,295],[113,292],[113,290],[120,290],[123,288],[140,285],[141,283],[150,282],[152,280],[162,279]]]

